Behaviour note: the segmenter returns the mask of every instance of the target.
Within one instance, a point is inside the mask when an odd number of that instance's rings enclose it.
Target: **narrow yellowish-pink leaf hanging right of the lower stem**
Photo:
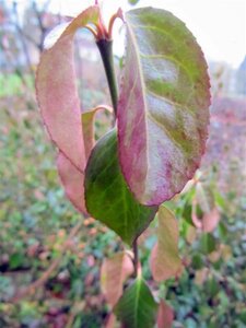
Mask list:
[[[151,254],[151,271],[155,281],[163,281],[180,273],[178,256],[178,224],[174,214],[160,207],[157,244]]]

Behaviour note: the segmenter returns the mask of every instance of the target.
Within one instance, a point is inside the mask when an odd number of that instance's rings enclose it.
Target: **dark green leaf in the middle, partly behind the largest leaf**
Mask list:
[[[85,204],[89,213],[114,230],[124,242],[132,242],[147,229],[157,208],[140,204],[121,174],[116,130],[93,149],[85,169]]]

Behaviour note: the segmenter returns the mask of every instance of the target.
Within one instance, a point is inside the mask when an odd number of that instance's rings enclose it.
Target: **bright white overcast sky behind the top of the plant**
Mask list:
[[[127,0],[99,2],[107,19],[119,7],[131,9]],[[50,9],[74,16],[90,4],[94,0],[52,0]],[[208,60],[237,68],[246,56],[246,0],[140,0],[138,4],[149,5],[168,10],[184,21]],[[122,51],[122,39],[116,40],[115,49],[118,55]]]

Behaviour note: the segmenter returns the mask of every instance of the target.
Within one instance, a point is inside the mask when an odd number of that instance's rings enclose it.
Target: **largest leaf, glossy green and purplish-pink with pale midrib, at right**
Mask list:
[[[204,152],[207,65],[195,37],[167,11],[129,11],[126,25],[118,103],[120,165],[137,199],[160,204],[184,188]]]

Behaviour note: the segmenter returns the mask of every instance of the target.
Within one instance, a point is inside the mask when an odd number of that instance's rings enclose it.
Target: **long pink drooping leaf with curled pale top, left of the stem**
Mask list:
[[[69,24],[47,37],[37,69],[36,93],[50,138],[80,171],[85,167],[80,99],[73,61],[73,37],[78,28],[98,22],[98,7],[90,7]]]

